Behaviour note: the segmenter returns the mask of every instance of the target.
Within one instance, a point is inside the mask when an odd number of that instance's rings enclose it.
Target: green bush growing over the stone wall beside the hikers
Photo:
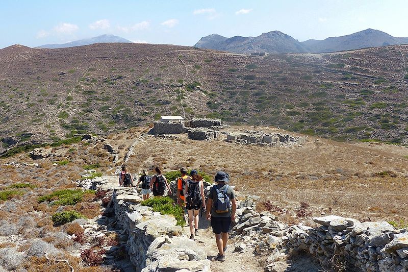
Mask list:
[[[172,214],[177,220],[178,226],[184,226],[186,220],[184,219],[184,210],[179,205],[175,205],[174,201],[170,197],[152,197],[148,200],[140,202],[142,206],[152,207],[155,212],[161,214]]]

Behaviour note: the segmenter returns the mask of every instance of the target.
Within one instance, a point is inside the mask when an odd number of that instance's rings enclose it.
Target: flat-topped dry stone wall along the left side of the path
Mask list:
[[[136,200],[130,190],[115,192],[112,200],[118,224],[129,236],[126,250],[137,271],[211,271],[206,252],[183,235],[173,216],[137,204],[140,197]]]

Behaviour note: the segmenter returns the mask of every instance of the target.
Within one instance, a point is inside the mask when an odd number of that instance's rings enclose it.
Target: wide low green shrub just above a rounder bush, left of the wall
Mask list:
[[[95,194],[94,190],[64,189],[38,197],[38,203],[51,202],[50,205],[66,206],[75,205],[82,201],[84,194]]]

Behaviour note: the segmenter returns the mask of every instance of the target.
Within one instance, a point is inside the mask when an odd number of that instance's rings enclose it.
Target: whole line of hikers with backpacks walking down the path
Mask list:
[[[148,171],[143,170],[143,175],[140,176],[137,184],[134,185],[133,177],[129,170],[126,166],[122,166],[119,184],[125,187],[137,187],[141,183],[143,200],[148,199],[150,193],[153,193],[155,197],[163,196],[166,187],[168,194],[171,195],[171,188],[161,169],[156,167],[155,172],[156,175],[149,176]],[[180,169],[180,177],[177,178],[176,199],[177,204],[187,210],[191,234],[190,239],[194,239],[198,235],[200,209],[206,212],[205,217],[211,221],[211,227],[215,234],[219,252],[215,260],[224,261],[228,231],[230,230],[232,220],[235,220],[237,202],[233,188],[228,185],[230,176],[226,172],[218,171],[214,181],[217,184],[211,187],[206,202],[202,176],[195,169],[190,170],[188,174],[188,170],[182,167]]]

